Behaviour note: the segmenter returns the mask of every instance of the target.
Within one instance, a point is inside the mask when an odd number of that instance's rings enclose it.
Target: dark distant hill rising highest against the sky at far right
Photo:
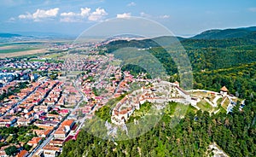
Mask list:
[[[198,35],[192,37],[193,39],[227,39],[227,38],[244,38],[250,36],[253,32],[256,32],[256,26],[247,28],[235,28],[235,29],[213,29],[206,32],[201,32]]]

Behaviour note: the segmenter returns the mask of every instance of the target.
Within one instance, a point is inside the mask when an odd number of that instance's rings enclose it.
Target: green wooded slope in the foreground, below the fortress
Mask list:
[[[172,105],[170,104],[170,108]],[[174,128],[168,114],[141,137],[113,142],[80,131],[77,141],[65,143],[61,157],[74,156],[206,156],[211,142],[230,156],[255,156],[255,102],[232,114],[189,112]],[[102,126],[103,127],[103,126]]]

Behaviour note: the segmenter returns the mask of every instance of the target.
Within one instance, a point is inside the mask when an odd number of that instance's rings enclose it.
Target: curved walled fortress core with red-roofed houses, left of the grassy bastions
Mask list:
[[[132,113],[145,102],[154,103],[157,108],[163,108],[166,102],[179,102],[196,107],[197,98],[189,96],[189,93],[179,87],[179,84],[166,81],[154,82],[149,87],[142,87],[131,94],[126,95],[113,108],[111,121],[115,125],[125,125]]]

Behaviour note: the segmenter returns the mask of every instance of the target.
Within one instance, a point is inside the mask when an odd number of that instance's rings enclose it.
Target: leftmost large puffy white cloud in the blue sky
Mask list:
[[[33,14],[27,12],[26,15],[19,15],[19,19],[29,19],[34,21],[40,21],[43,19],[55,18],[58,15],[59,8],[55,9],[37,9]]]

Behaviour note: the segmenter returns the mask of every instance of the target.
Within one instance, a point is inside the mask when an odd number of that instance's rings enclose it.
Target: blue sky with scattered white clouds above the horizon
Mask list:
[[[77,35],[110,18],[138,16],[175,35],[256,26],[255,0],[1,0],[0,32]]]

